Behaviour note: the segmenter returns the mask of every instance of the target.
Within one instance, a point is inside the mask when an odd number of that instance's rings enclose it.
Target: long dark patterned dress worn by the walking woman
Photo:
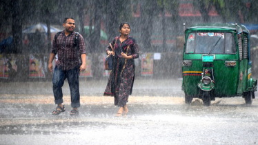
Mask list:
[[[112,71],[104,95],[114,96],[115,106],[123,107],[128,102],[129,95],[132,94],[132,86],[135,80],[134,59],[139,57],[139,48],[132,37],[128,37],[122,43],[119,38],[116,37],[111,43],[115,49],[115,56],[113,57]],[[108,46],[106,51],[108,50],[112,51],[112,48]],[[128,56],[132,55],[133,59],[123,59],[121,52]]]

